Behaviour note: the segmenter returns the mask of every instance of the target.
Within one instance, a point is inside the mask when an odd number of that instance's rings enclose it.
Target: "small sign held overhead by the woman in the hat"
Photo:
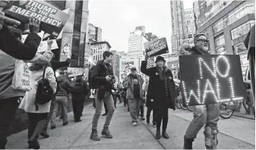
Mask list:
[[[153,57],[169,53],[166,38],[155,39],[150,42],[144,42],[146,55]]]

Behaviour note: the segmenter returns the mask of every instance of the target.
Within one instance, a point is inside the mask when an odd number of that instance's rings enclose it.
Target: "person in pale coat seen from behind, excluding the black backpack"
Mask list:
[[[44,71],[45,78],[49,80],[49,86],[51,86],[53,93],[56,92],[57,83],[55,81],[54,72],[52,70],[52,67],[50,67],[50,64],[32,64],[30,70],[30,84],[32,89],[29,92],[26,92],[26,95],[23,98],[19,108],[24,109],[24,111],[27,112],[29,148],[39,149],[40,144],[37,141],[39,135],[36,135],[35,137],[33,137],[33,139],[30,138],[36,129],[37,123],[39,123],[40,120],[46,120],[50,111],[50,102],[47,102],[43,105],[37,104],[38,110],[36,110],[36,89],[39,81],[43,79]]]

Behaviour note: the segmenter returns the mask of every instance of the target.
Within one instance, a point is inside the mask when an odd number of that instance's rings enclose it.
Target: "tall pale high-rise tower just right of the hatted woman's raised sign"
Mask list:
[[[172,54],[178,54],[179,46],[185,39],[185,16],[183,0],[170,1],[172,20]]]

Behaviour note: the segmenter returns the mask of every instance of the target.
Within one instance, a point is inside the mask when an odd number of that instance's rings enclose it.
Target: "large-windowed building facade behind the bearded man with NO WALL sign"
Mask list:
[[[211,54],[240,55],[242,72],[248,67],[245,36],[255,23],[255,2],[194,2],[198,33],[209,37]]]

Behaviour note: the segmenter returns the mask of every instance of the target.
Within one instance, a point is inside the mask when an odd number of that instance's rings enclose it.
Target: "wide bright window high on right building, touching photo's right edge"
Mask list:
[[[243,23],[239,27],[236,27],[235,29],[231,30],[231,37],[232,39],[239,38],[240,36],[243,36],[247,34],[251,27],[254,25],[255,20],[249,20],[246,23]]]

